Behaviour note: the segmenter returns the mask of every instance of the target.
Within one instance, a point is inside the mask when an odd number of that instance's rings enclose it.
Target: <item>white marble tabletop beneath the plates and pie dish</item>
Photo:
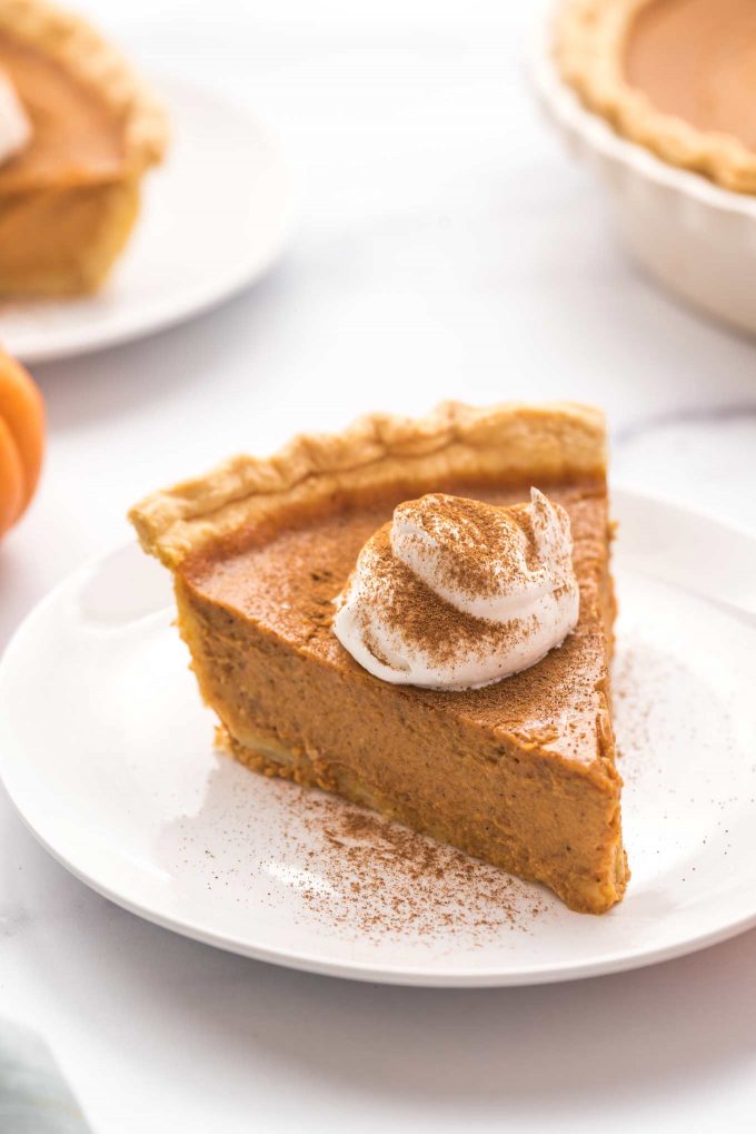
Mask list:
[[[601,403],[615,482],[756,530],[756,345],[623,259],[589,174],[532,105],[530,6],[85,7],[147,66],[278,129],[300,223],[280,269],[214,314],[39,369],[49,460],[0,548],[0,644],[129,538],[124,511],[155,484],[447,396]],[[69,878],[3,798],[0,840],[3,1012],[49,1039],[97,1134],[756,1123],[756,933],[571,985],[379,989],[139,922]]]

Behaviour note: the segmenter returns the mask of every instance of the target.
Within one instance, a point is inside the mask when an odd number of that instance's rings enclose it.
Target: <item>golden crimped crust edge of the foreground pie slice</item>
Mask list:
[[[189,553],[284,508],[397,482],[603,476],[603,414],[589,406],[443,403],[428,417],[372,414],[338,434],[301,434],[269,458],[233,457],[129,511],[145,551],[176,568]]]

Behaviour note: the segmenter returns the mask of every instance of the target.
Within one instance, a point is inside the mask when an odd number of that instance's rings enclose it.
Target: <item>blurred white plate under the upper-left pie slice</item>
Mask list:
[[[102,291],[3,302],[0,340],[25,362],[113,346],[181,322],[252,284],[279,257],[291,195],[278,143],[243,108],[178,79],[156,84],[170,116],[165,163]]]

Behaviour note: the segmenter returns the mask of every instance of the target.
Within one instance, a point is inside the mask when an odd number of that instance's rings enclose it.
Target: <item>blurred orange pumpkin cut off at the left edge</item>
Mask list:
[[[44,451],[44,404],[28,373],[0,349],[0,535],[34,496]]]

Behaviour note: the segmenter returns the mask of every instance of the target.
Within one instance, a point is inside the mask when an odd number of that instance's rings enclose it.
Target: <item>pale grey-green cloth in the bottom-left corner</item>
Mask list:
[[[92,1134],[46,1044],[0,1019],[2,1134]]]

